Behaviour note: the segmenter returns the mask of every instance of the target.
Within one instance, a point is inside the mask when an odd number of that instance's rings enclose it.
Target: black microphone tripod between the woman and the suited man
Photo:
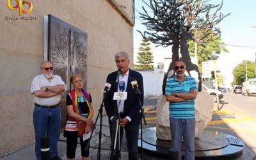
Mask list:
[[[95,124],[93,125],[93,129],[92,129],[92,132],[90,134],[89,141],[88,141],[88,143],[86,144],[86,147],[85,147],[85,150],[88,150],[89,145],[90,145],[90,141],[91,141],[91,138],[92,138],[93,131],[96,128],[95,126],[97,124],[97,120],[98,120],[99,115],[100,115],[99,146],[98,146],[98,155],[97,155],[98,160],[100,160],[100,148],[101,148],[101,138],[102,138],[102,111],[103,111],[103,107],[104,107],[104,100],[105,100],[105,97],[106,97],[105,95],[106,95],[107,92],[108,92],[108,90],[106,90],[103,93],[102,103],[100,104],[100,108],[98,110],[99,112],[98,112],[97,118],[95,120]]]

